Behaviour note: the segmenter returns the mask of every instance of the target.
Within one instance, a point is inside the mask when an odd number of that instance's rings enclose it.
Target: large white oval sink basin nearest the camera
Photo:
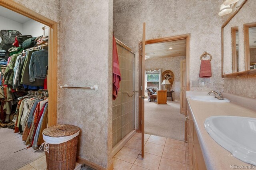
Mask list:
[[[230,156],[256,166],[256,118],[212,116],[204,127]]]

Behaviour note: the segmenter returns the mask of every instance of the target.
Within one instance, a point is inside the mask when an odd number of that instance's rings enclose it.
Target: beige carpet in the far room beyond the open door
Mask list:
[[[167,101],[167,105],[158,105],[145,100],[144,120],[145,133],[184,141],[185,124],[180,103]]]

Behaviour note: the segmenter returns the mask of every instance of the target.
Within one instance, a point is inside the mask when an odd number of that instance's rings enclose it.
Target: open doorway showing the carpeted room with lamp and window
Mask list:
[[[184,141],[180,89],[185,75],[182,76],[180,63],[185,60],[186,39],[145,45],[146,134]]]

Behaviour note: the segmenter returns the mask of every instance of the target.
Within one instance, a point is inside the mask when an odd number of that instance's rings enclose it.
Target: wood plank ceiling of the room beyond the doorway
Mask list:
[[[148,59],[185,56],[186,40],[146,44],[145,53],[150,56]]]

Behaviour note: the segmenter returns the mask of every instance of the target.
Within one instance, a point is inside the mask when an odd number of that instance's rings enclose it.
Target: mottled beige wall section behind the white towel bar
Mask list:
[[[81,128],[79,156],[108,167],[112,154],[112,0],[60,1],[58,123]],[[104,11],[104,12],[102,12]]]

